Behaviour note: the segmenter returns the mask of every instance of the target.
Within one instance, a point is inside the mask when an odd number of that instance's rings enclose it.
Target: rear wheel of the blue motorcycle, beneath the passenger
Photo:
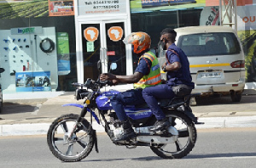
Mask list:
[[[189,154],[194,148],[196,141],[196,129],[194,123],[183,112],[169,110],[166,116],[172,122],[172,126],[177,129],[178,137],[175,143],[155,144],[150,148],[161,158],[180,159]],[[174,123],[175,122],[175,123]]]

